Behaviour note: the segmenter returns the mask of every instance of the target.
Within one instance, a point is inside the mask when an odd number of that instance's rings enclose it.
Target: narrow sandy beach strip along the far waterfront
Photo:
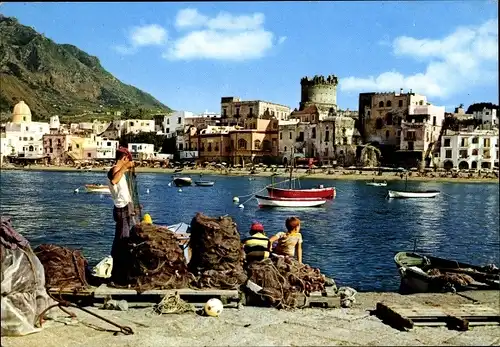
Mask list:
[[[43,166],[43,165],[33,165],[29,168],[19,168],[19,167],[1,167],[1,170],[5,171],[54,171],[54,172],[105,172],[104,168],[93,168],[91,171],[83,171],[76,169],[75,167],[70,166]],[[325,180],[325,181],[334,181],[334,180],[343,180],[343,181],[371,181],[375,179],[375,181],[404,181],[400,177],[399,173],[396,172],[383,172],[382,175],[378,175],[378,173],[374,171],[362,171],[362,174],[359,174],[357,170],[336,170],[333,174],[328,174],[317,169],[315,173],[307,174],[305,173],[305,169],[299,169],[297,172],[293,174],[294,178],[300,177],[301,179],[315,179],[315,180]],[[276,177],[276,178],[288,178],[289,173],[285,172],[258,172],[255,174],[250,174],[248,170],[233,170],[231,172],[222,172],[222,170],[213,170],[213,169],[184,169],[181,172],[175,172],[174,169],[165,169],[165,168],[150,168],[150,167],[137,167],[137,173],[162,173],[162,174],[178,174],[178,175],[206,175],[206,176],[226,176],[226,177]],[[436,173],[435,173],[436,174]],[[416,176],[416,173],[413,173],[412,176],[408,177],[408,181],[415,182],[439,182],[439,183],[499,183],[498,178],[484,178],[484,177],[428,177],[428,176]]]

